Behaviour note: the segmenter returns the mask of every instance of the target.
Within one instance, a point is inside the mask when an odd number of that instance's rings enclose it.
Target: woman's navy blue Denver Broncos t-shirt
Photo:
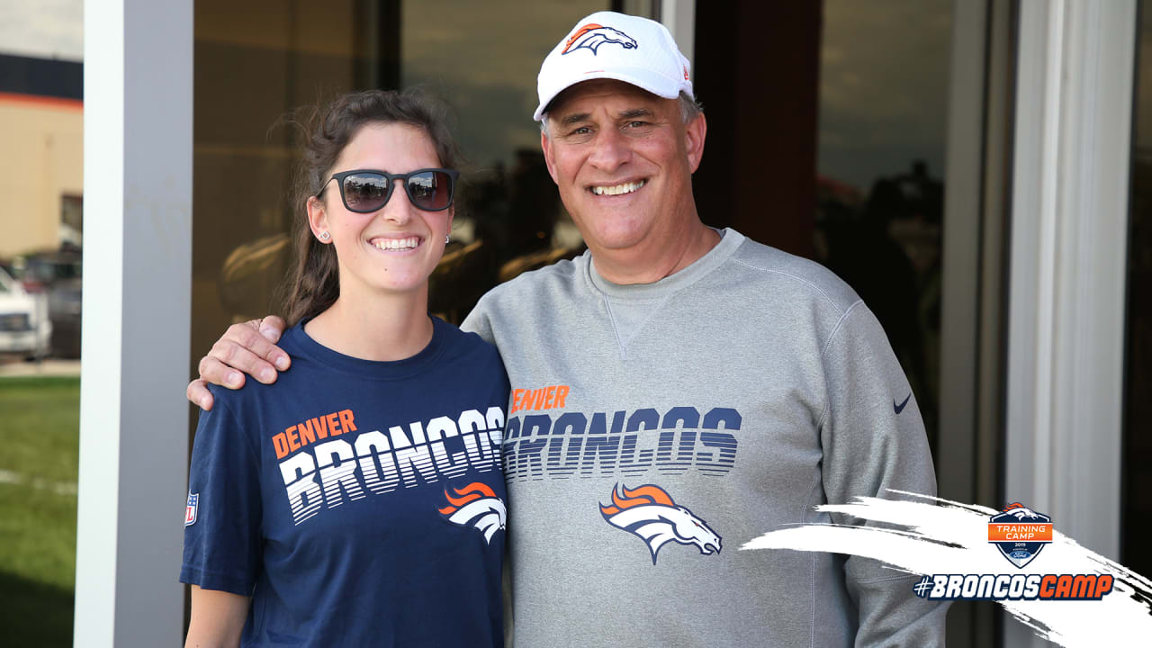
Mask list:
[[[303,323],[272,385],[213,389],[180,580],[252,596],[244,646],[502,646],[508,378],[433,319],[407,360],[357,360]]]

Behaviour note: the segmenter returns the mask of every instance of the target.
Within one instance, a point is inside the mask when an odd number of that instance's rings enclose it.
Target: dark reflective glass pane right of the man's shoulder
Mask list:
[[[824,3],[817,256],[884,325],[933,446],[950,28],[946,0]]]

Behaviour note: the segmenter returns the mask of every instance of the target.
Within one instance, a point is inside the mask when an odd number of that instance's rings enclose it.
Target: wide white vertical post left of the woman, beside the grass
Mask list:
[[[179,646],[192,0],[84,2],[76,646]]]

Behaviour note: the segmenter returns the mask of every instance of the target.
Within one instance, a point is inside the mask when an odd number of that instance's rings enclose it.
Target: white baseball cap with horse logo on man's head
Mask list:
[[[540,121],[548,103],[566,88],[593,78],[614,78],[642,90],[675,99],[692,99],[691,63],[662,24],[615,12],[597,12],[579,22],[540,66],[537,92],[540,105],[532,119]]]

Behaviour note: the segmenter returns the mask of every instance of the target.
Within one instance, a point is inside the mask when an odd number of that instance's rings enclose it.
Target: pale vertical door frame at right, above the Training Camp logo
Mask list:
[[[1135,0],[1020,6],[1005,496],[1116,559]],[[1031,632],[1015,621],[1006,646]]]

